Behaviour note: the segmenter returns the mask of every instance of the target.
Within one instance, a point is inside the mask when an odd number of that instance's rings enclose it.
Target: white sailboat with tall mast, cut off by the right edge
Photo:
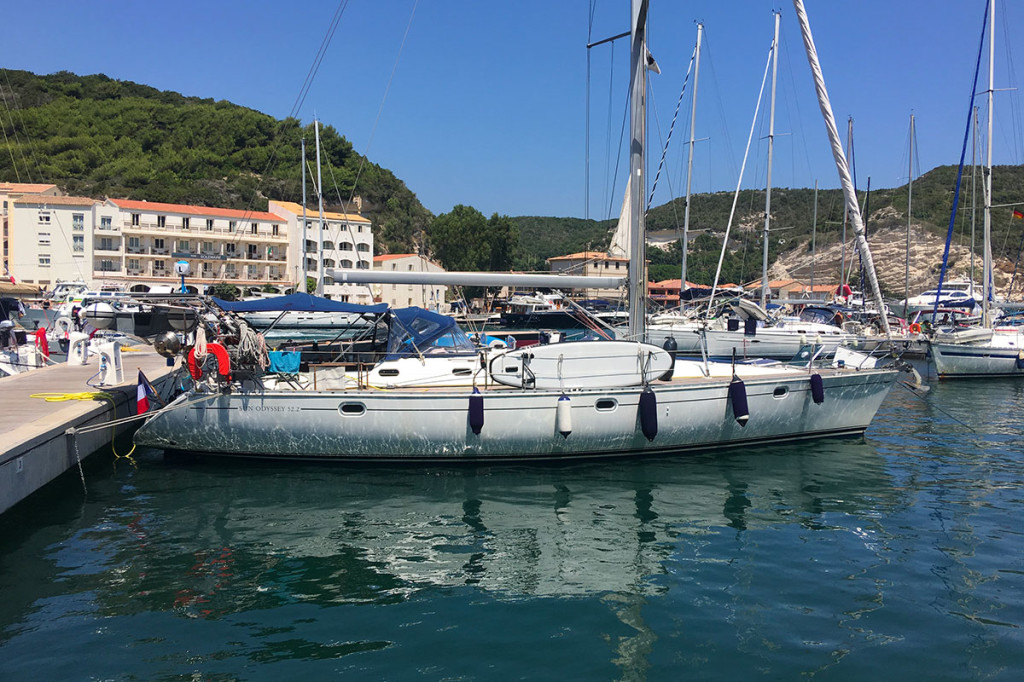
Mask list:
[[[992,95],[995,90],[995,3],[988,0],[988,139],[983,185],[982,302],[980,328],[939,330],[930,347],[939,378],[1024,376],[1024,332],[992,324]],[[940,290],[941,291],[941,281]],[[937,294],[938,295],[938,294]],[[936,304],[937,305],[937,304]]]

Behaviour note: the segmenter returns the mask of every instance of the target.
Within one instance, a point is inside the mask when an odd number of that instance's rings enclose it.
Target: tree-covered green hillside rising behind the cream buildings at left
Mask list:
[[[0,155],[0,180],[238,209],[302,199],[300,139],[311,157],[312,125],[102,75],[3,75],[8,148]],[[332,126],[321,131],[321,141],[325,202],[341,210],[354,189],[382,250],[422,244],[430,215],[404,183],[353,152]]]

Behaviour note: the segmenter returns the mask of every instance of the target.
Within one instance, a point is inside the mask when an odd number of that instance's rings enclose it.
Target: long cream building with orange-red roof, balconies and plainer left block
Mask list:
[[[12,202],[11,270],[50,287],[83,280],[94,288],[145,292],[176,286],[174,263],[191,266],[186,286],[219,282],[243,290],[283,291],[288,280],[287,222],[266,212],[84,197],[22,197]]]

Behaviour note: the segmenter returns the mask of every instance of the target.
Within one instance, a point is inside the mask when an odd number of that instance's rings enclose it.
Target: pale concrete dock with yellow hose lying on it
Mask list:
[[[117,434],[133,432],[138,422],[80,433],[67,431],[135,414],[138,371],[163,391],[172,368],[152,348],[122,352],[124,381],[117,386],[95,384],[99,358],[88,365],[54,365],[0,380],[0,513],[29,497],[80,460],[108,447]],[[81,394],[102,391],[111,399],[47,401],[40,393]]]

